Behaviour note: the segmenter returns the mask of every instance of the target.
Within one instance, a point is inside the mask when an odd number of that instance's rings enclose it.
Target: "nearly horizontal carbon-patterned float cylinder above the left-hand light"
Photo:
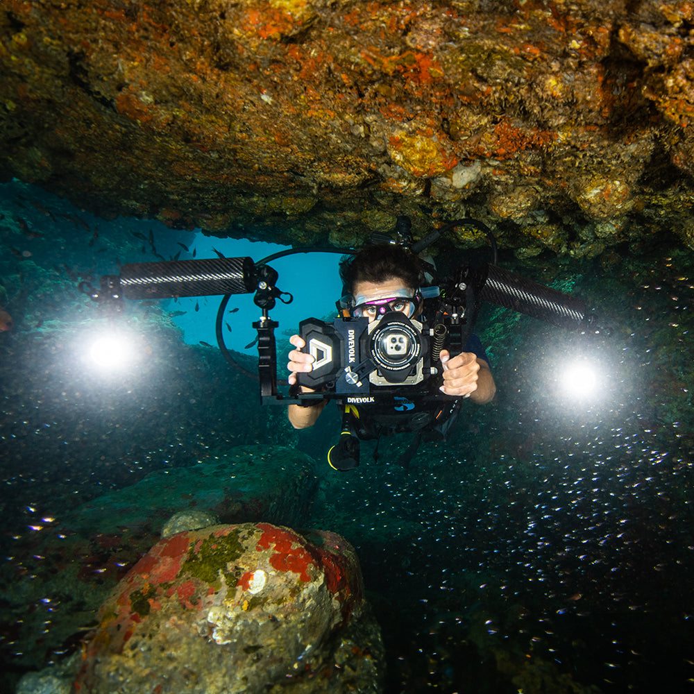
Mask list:
[[[126,299],[247,294],[255,291],[249,257],[135,262],[121,267]]]

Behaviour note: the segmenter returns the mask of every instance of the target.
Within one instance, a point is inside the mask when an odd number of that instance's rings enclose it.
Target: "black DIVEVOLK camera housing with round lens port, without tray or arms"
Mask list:
[[[429,332],[427,325],[394,311],[371,324],[367,318],[301,321],[304,351],[315,362],[313,371],[297,374],[297,382],[337,395],[417,385],[432,375]]]

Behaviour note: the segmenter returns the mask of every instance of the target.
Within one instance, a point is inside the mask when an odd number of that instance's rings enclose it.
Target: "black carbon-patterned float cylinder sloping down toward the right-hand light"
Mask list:
[[[539,285],[496,265],[487,266],[480,298],[560,328],[579,328],[586,319],[586,304],[581,299]]]

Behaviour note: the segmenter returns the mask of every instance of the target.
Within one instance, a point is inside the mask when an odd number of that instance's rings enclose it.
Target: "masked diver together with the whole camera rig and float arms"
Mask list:
[[[457,226],[484,232],[492,262],[461,265],[439,287],[433,262],[421,253]],[[407,467],[419,441],[446,440],[466,398],[484,405],[495,396],[489,358],[472,332],[483,302],[582,334],[600,330],[582,299],[496,266],[496,239],[480,221],[455,219],[414,244],[409,218],[398,217],[395,231],[397,240],[375,235],[389,243],[358,253],[310,248],[280,251],[257,262],[233,257],[128,263],[118,276],[102,276],[99,287],[81,282],[79,289],[115,312],[122,310],[124,298],[223,294],[217,344],[246,374],[224,345],[223,316],[230,296],[255,291],[253,302],[262,309],[252,324],[257,330],[260,401],[284,404],[285,395],[277,388],[278,323],[270,319],[269,310],[276,301],[290,303],[292,297],[277,287],[278,273],[267,263],[294,253],[348,254],[340,264],[344,296],[335,321],[305,319],[299,324],[300,334],[291,336],[289,421],[296,429],[311,427],[325,403],[335,399],[342,409],[342,428],[339,442],[328,452],[333,468],[344,471],[359,464],[359,441],[376,439],[376,457],[383,435],[414,432],[398,460]]]

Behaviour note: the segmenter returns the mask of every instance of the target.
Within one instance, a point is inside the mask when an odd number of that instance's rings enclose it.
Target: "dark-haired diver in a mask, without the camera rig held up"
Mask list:
[[[340,276],[346,289],[343,305],[351,316],[366,317],[369,323],[393,311],[403,312],[409,319],[418,318],[425,312],[427,303],[423,298],[427,289],[424,286],[427,284],[425,273],[425,263],[403,246],[367,246],[340,264]],[[296,374],[312,371],[314,357],[301,351],[305,341],[299,335],[292,335],[289,341],[295,348],[289,352],[287,364],[290,393],[310,392],[310,388],[297,383]],[[477,405],[489,403],[496,393],[496,385],[489,368],[489,358],[474,333],[468,338],[462,353],[451,357],[448,350],[443,349],[440,360],[443,384],[439,390],[442,395],[436,393],[436,397],[432,398],[432,393],[428,392],[427,397],[419,398],[419,402],[416,396],[410,396],[411,399],[395,398],[396,405],[390,407],[390,412],[384,412],[382,406],[378,405],[359,405],[358,409],[348,405],[345,408],[348,421],[343,423],[343,434],[373,439],[381,434],[414,431],[418,434],[413,442],[414,450],[421,434],[429,440],[445,439],[457,417],[462,399],[469,398]],[[291,425],[296,429],[314,425],[326,403],[327,400],[306,400],[301,405],[289,405],[287,415]],[[423,412],[425,409],[429,412]],[[403,464],[409,463],[412,455]],[[342,457],[350,459],[350,455]],[[336,466],[332,461],[331,465],[337,469],[348,469]]]

